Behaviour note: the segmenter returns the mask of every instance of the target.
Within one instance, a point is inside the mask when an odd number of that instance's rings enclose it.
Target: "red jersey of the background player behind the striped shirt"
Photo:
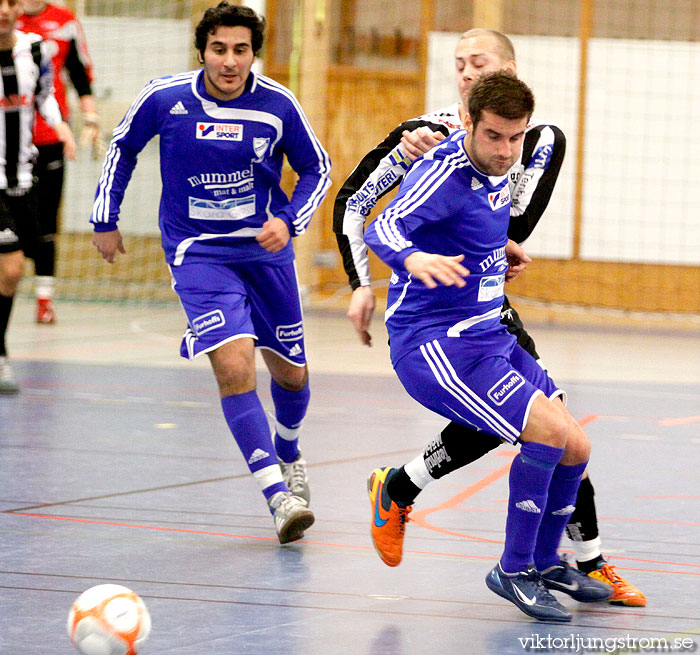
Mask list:
[[[63,119],[68,120],[66,73],[79,96],[92,95],[92,62],[83,28],[69,9],[48,4],[38,14],[20,16],[17,29],[38,34],[48,42],[54,69],[54,95]],[[41,146],[58,142],[55,130],[37,115],[34,143]]]

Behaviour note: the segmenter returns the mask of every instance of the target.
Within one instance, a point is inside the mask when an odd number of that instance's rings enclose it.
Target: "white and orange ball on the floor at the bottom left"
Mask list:
[[[150,631],[146,605],[121,585],[90,587],[68,614],[68,635],[83,655],[136,655]]]

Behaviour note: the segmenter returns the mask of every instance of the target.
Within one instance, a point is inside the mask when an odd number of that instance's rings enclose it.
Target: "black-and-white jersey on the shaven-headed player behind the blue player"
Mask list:
[[[462,129],[459,105],[401,123],[362,158],[336,196],[333,231],[353,290],[370,283],[365,221],[379,198],[398,185],[411,165],[401,148],[401,135],[422,126],[445,136]],[[522,243],[535,229],[552,196],[565,150],[566,139],[558,127],[530,121],[520,161],[509,173],[512,204],[508,236],[513,241]]]

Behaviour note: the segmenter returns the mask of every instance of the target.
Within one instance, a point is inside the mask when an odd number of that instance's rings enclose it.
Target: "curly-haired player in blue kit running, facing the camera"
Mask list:
[[[300,539],[308,509],[299,430],[309,403],[291,238],[330,186],[330,160],[294,95],[251,71],[265,21],[221,2],[195,30],[202,68],[157,79],[114,131],[91,221],[108,262],[125,253],[119,208],[136,157],[160,136],[159,226],[187,314],[181,354],[207,354],[228,426],[273,514],[280,543]],[[299,176],[280,188],[283,157]],[[256,393],[254,348],[272,376],[274,442]]]

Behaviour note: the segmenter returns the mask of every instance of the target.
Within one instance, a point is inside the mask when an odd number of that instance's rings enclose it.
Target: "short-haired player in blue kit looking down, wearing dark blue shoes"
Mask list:
[[[500,321],[509,265],[526,260],[507,236],[507,174],[520,157],[534,98],[515,76],[496,72],[473,85],[468,109],[466,131],[417,160],[365,241],[393,269],[386,325],[408,393],[441,416],[521,444],[510,472],[505,547],[487,586],[529,616],[570,621],[550,589],[583,602],[612,594],[557,554],[590,443],[566,411],[564,392]],[[382,527],[397,505],[381,480],[375,484],[382,473],[369,479],[380,555]]]

